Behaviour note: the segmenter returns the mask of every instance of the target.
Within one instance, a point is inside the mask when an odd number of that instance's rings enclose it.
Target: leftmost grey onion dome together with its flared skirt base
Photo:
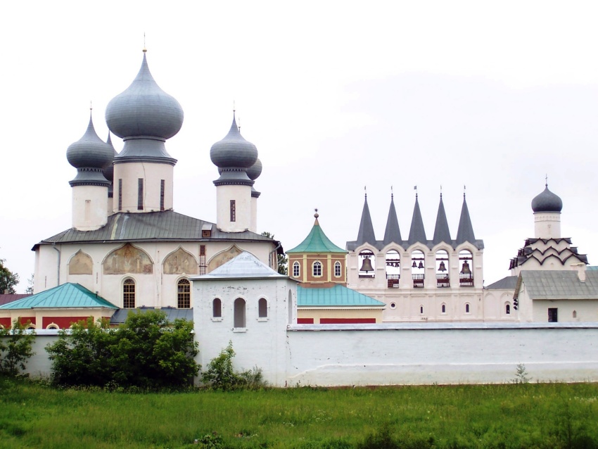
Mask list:
[[[66,151],[68,162],[77,169],[77,177],[70,181],[70,185],[109,185],[103,170],[112,163],[113,157],[113,148],[98,137],[90,114],[87,131]]]

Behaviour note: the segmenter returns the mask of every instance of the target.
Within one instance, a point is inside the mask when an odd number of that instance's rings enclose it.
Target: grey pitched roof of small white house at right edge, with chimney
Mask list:
[[[531,299],[598,299],[598,272],[586,271],[585,282],[575,270],[524,270],[519,274],[515,298],[525,284]]]

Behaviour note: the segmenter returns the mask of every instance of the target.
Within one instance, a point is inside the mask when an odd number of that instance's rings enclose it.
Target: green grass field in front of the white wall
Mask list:
[[[0,447],[597,448],[598,384],[115,393],[0,379]]]

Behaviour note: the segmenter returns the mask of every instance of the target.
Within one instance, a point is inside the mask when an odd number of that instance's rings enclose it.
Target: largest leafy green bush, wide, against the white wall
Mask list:
[[[160,310],[130,312],[118,329],[90,317],[60,331],[58,341],[46,346],[52,382],[110,388],[188,385],[199,370],[192,330],[187,320],[169,324]]]

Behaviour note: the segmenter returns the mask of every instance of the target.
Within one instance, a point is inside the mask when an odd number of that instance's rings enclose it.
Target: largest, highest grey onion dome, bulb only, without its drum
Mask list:
[[[145,53],[131,85],[108,103],[106,123],[121,139],[141,136],[170,139],[181,129],[183,108],[153,80]]]

